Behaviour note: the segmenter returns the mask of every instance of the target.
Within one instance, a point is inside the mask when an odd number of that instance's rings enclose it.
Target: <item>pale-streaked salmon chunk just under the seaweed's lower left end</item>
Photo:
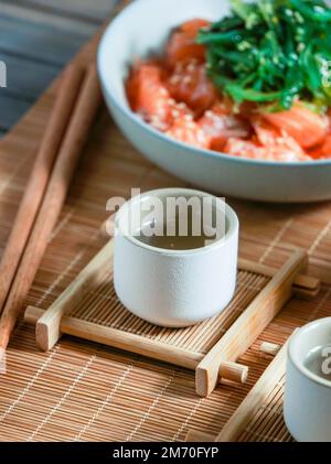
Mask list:
[[[231,115],[228,105],[223,101],[205,111],[199,120],[199,126],[207,137],[209,148],[215,151],[222,151],[231,137],[247,139],[250,134],[248,122]]]

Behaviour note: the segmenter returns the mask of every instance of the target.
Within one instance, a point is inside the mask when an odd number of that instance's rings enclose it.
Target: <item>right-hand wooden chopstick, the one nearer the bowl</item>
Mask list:
[[[14,277],[0,319],[0,359],[21,312],[47,246],[49,237],[61,213],[70,182],[78,162],[88,129],[102,101],[95,65],[86,74],[70,126],[52,171],[44,199]]]

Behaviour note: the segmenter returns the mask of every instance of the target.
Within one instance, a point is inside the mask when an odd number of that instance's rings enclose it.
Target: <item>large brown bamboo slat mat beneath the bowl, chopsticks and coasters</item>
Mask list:
[[[92,48],[77,60],[86,60]],[[0,143],[1,249],[56,85]],[[121,137],[107,111],[100,111],[26,305],[46,309],[105,244],[99,226],[110,196],[129,196],[131,187],[174,185],[183,183],[146,161]],[[0,377],[1,441],[181,441],[189,429],[216,435],[270,360],[260,356],[260,342],[284,343],[295,327],[331,315],[331,204],[227,201],[241,219],[242,257],[278,267],[290,247],[300,246],[310,255],[311,273],[325,282],[313,300],[292,299],[239,359],[249,366],[248,382],[221,385],[202,399],[195,396],[194,374],[189,370],[71,337],[41,353],[33,328],[21,322],[8,350],[7,374]],[[206,349],[207,341],[194,343]],[[277,389],[241,440],[290,440],[278,413],[281,392]]]

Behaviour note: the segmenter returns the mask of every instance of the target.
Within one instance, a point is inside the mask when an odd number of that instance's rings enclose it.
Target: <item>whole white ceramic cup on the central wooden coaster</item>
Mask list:
[[[195,249],[156,248],[140,241],[135,234],[128,235],[124,227],[129,214],[141,215],[141,202],[156,196],[163,203],[169,197],[210,196],[200,191],[161,188],[143,193],[121,206],[115,219],[115,291],[129,311],[152,324],[168,327],[193,325],[223,311],[233,298],[238,219],[223,203],[223,237]]]

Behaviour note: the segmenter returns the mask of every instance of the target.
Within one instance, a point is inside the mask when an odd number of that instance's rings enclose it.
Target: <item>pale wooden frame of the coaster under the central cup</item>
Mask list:
[[[49,350],[62,334],[68,334],[185,367],[195,370],[196,392],[202,397],[210,395],[221,379],[244,382],[248,368],[236,363],[238,357],[295,292],[307,298],[319,291],[319,281],[302,274],[307,265],[307,255],[302,250],[296,250],[279,270],[239,261],[241,270],[271,278],[223,336],[220,330],[220,338],[209,353],[202,354],[70,315],[71,309],[111,271],[113,252],[114,242],[109,240],[46,311],[33,306],[26,309],[24,317],[35,324],[38,346]]]

